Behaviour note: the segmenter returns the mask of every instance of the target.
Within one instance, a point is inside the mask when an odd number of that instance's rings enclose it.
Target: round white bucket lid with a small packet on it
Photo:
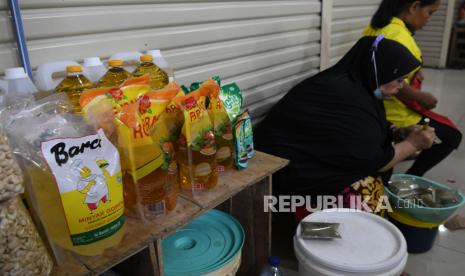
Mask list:
[[[314,263],[348,273],[380,273],[398,266],[407,254],[402,233],[379,216],[349,210],[328,209],[303,221],[340,223],[341,239],[304,240],[300,225],[296,250]]]

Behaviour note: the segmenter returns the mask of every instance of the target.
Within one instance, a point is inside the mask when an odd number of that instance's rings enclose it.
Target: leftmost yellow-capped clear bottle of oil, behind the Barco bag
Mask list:
[[[79,98],[82,91],[94,87],[94,84],[82,74],[81,66],[72,65],[66,67],[66,77],[55,88],[55,92],[64,92],[68,95],[72,106],[73,112],[82,114]]]

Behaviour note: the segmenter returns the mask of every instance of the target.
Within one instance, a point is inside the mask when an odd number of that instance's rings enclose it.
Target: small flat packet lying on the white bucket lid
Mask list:
[[[303,239],[340,239],[339,223],[309,222],[300,223],[300,235]]]

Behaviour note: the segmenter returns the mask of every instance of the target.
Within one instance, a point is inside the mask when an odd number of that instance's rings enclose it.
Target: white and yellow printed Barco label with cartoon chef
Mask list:
[[[42,143],[74,246],[92,244],[124,224],[119,154],[102,129],[95,135]],[[110,196],[111,195],[111,196]]]

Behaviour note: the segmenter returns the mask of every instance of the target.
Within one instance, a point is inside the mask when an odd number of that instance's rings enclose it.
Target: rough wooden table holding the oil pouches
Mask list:
[[[163,275],[162,240],[212,208],[229,212],[242,224],[245,243],[238,275],[258,275],[271,253],[271,213],[264,196],[271,194],[272,174],[287,160],[256,152],[249,168],[219,178],[218,186],[200,196],[181,194],[176,209],[153,224],[126,219],[126,235],[118,247],[98,257],[68,256],[53,275],[96,275],[109,269],[128,275]]]

